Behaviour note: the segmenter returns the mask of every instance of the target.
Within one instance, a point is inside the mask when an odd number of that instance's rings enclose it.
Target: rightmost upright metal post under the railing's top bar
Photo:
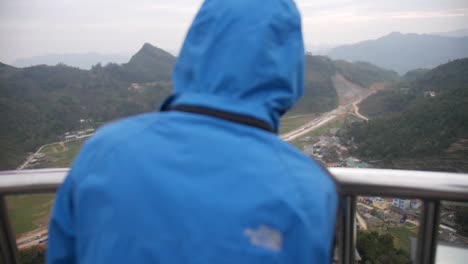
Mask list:
[[[422,219],[419,226],[416,263],[433,264],[436,257],[439,232],[440,202],[424,201]]]

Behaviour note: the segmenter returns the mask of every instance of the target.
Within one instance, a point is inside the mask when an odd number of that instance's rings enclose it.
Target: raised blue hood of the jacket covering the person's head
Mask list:
[[[304,46],[292,0],[206,0],[177,59],[163,108],[195,105],[249,115],[278,131],[301,97]]]

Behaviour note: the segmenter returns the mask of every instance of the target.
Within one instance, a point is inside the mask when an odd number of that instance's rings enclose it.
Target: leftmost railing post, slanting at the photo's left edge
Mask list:
[[[10,228],[4,196],[0,196],[0,251],[3,263],[18,263],[16,240]]]

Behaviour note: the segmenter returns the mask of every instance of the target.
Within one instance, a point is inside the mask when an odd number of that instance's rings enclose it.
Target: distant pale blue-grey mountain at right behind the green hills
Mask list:
[[[404,74],[418,68],[433,68],[450,60],[468,57],[468,37],[391,33],[384,37],[336,47],[333,59],[366,61]]]

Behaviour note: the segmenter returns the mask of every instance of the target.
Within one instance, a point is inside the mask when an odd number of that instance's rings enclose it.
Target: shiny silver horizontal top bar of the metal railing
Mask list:
[[[329,170],[343,195],[468,201],[468,174],[356,168]],[[0,194],[54,192],[68,171],[62,168],[0,172]]]

